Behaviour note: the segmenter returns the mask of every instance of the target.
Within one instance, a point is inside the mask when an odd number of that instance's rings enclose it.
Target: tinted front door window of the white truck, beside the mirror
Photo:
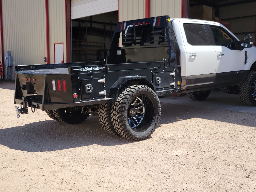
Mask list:
[[[226,34],[223,30],[211,26],[211,30],[214,36],[215,44],[228,47],[229,49],[235,49],[235,45],[233,43],[233,39]]]

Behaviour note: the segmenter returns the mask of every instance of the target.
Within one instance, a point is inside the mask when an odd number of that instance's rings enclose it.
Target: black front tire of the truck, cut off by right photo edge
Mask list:
[[[250,71],[247,80],[240,84],[239,96],[245,105],[256,106],[256,101],[252,96],[254,81],[256,81],[256,71]]]

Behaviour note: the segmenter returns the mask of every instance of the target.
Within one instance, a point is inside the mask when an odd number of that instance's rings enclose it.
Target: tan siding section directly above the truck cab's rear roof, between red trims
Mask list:
[[[151,0],[150,17],[169,15],[170,18],[180,18],[181,3],[181,0]]]

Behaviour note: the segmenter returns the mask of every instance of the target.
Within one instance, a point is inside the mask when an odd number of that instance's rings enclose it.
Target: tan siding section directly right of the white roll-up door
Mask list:
[[[119,21],[145,18],[145,0],[119,0]]]

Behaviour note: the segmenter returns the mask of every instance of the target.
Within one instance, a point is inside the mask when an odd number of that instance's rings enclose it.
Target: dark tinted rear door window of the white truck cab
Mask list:
[[[190,45],[209,45],[204,25],[184,23],[183,27]]]

